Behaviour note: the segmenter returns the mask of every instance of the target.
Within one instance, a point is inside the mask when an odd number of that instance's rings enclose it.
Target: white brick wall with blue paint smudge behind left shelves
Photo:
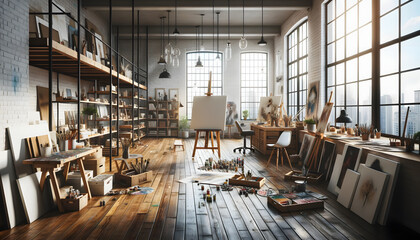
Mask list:
[[[76,16],[75,0],[57,0],[57,3]],[[0,0],[0,150],[9,148],[6,146],[6,127],[28,123],[36,111],[36,86],[48,87],[48,71],[29,66],[30,11],[48,11],[48,1]],[[82,16],[89,16],[108,39],[105,19],[85,9],[82,9]],[[85,23],[84,17],[81,22]],[[81,33],[84,36],[84,31]],[[55,92],[55,74],[53,79]],[[60,79],[60,89],[76,90],[75,78],[60,75]],[[60,105],[60,118],[64,117],[63,111],[75,108],[75,105]]]

